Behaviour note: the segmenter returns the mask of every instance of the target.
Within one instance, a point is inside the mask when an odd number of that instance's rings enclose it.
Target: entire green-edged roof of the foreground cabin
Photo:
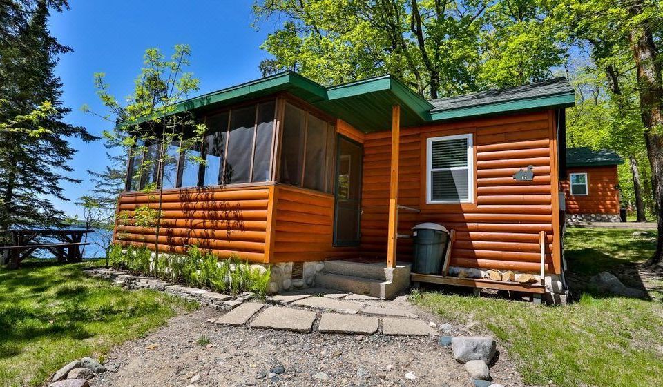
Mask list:
[[[426,101],[391,75],[325,87],[286,71],[187,99],[175,106],[175,113],[192,110],[204,114],[276,92],[300,97],[363,132],[390,130],[394,104],[401,106],[401,126],[416,126],[500,112],[573,106],[575,101],[573,88],[565,79]],[[127,124],[120,122],[118,126]]]

